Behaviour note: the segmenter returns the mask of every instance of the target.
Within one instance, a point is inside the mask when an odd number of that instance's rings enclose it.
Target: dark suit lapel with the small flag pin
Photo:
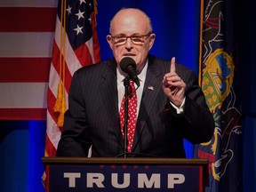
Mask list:
[[[134,151],[138,144],[138,141],[140,140],[141,133],[143,132],[143,129],[148,119],[148,114],[153,107],[158,92],[162,88],[163,76],[161,76],[161,70],[159,68],[159,65],[154,62],[155,61],[152,60],[151,57],[148,58],[148,71],[140,102],[140,112],[137,120],[132,151]]]

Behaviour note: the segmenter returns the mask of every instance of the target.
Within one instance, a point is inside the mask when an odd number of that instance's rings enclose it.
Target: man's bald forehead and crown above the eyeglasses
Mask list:
[[[138,10],[122,10],[116,14],[111,23],[112,35],[146,34],[149,31],[147,16]]]

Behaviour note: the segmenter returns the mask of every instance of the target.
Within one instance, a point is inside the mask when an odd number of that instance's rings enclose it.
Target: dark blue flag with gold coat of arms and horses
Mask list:
[[[235,7],[234,0],[201,0],[199,84],[215,120],[212,140],[195,148],[196,158],[209,161],[206,192],[243,191]]]

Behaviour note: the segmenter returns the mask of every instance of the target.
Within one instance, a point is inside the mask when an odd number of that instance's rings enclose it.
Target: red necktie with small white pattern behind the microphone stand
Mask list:
[[[128,123],[127,123],[127,138],[128,138],[128,146],[127,151],[131,152],[132,149],[132,142],[134,137],[134,132],[136,128],[136,122],[137,122],[137,95],[134,87],[134,82],[130,81],[130,87],[129,87],[129,95],[132,92],[132,96],[128,98]],[[120,124],[121,124],[121,131],[123,133],[124,138],[124,100],[125,96],[123,97],[121,108],[120,108]]]

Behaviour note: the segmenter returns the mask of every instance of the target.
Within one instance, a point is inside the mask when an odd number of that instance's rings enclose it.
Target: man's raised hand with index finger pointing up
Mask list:
[[[170,73],[164,75],[163,90],[168,99],[177,107],[180,107],[185,98],[186,84],[175,72],[175,58],[171,60]]]

